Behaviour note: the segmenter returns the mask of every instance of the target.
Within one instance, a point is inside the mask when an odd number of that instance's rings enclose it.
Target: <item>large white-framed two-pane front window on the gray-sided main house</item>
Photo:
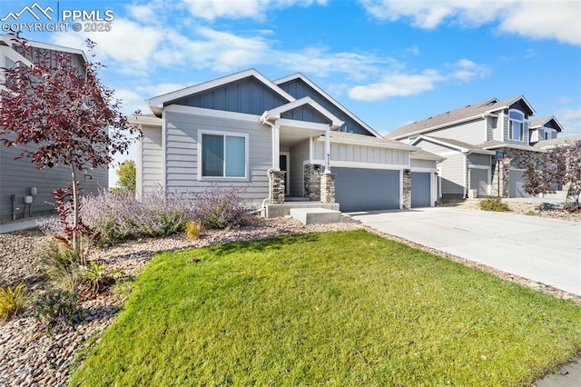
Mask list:
[[[220,132],[200,133],[200,177],[246,178],[248,135]]]

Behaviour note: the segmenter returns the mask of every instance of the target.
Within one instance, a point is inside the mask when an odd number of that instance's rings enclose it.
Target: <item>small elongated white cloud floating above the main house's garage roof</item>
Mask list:
[[[420,94],[434,88],[434,84],[446,79],[435,70],[422,74],[388,74],[380,82],[352,87],[349,96],[359,101],[377,101],[392,96]]]

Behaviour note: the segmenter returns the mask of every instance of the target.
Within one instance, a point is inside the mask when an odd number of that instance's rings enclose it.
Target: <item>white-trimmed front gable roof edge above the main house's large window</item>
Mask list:
[[[217,79],[214,79],[214,80],[208,81],[208,82],[203,82],[202,84],[194,84],[192,86],[185,87],[185,88],[182,88],[180,90],[173,91],[171,93],[158,95],[156,97],[145,100],[145,102],[152,109],[153,114],[156,114],[159,116],[162,114],[162,109],[163,109],[164,104],[170,103],[172,101],[178,100],[180,98],[183,98],[183,97],[186,97],[186,96],[189,96],[192,94],[198,94],[198,93],[204,92],[206,90],[220,87],[220,86],[223,86],[225,84],[230,84],[232,82],[240,81],[241,79],[245,79],[245,78],[248,78],[250,76],[256,78],[259,82],[261,82],[261,84],[264,84],[265,86],[269,87],[274,93],[281,95],[281,97],[283,99],[285,99],[286,101],[288,101],[288,102],[295,101],[295,98],[291,94],[288,94],[287,92],[282,90],[278,85],[273,84],[271,82],[271,80],[269,80],[267,77],[265,77],[264,75],[262,75],[261,73],[259,73],[255,69],[251,68],[249,70],[241,71],[240,73],[222,76],[221,78],[217,78]]]

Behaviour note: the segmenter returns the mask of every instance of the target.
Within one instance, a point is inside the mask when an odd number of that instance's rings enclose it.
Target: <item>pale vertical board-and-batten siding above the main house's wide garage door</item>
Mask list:
[[[325,143],[313,143],[313,159],[325,160]],[[409,151],[359,144],[330,144],[330,163],[338,166],[369,164],[368,168],[399,169],[409,165]]]

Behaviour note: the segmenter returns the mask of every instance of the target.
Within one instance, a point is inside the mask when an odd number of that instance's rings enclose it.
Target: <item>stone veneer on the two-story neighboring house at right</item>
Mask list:
[[[510,161],[497,163],[493,158],[492,196],[508,197],[508,171],[511,169],[527,169],[528,164],[532,164],[536,169],[540,168],[541,153],[513,148],[502,148],[502,150],[505,153],[505,157],[510,157]],[[500,164],[500,183],[498,183],[498,164]]]

